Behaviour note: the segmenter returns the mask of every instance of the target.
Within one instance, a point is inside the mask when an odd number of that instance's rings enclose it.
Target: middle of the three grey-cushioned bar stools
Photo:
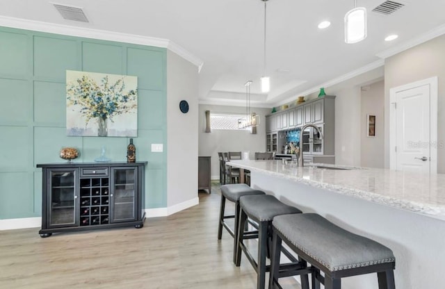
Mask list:
[[[293,206],[288,206],[272,195],[243,196],[239,200],[240,217],[238,224],[238,241],[236,247],[236,266],[241,265],[241,251],[244,252],[252,267],[257,272],[257,288],[264,288],[266,272],[270,271],[270,266],[266,265],[266,254],[268,251],[268,239],[270,238],[270,226],[272,220],[277,215],[297,214],[300,215],[301,210]],[[258,223],[258,231],[256,233],[244,232],[245,222],[247,218]],[[243,240],[258,238],[258,257],[255,262],[252,254],[244,244]],[[306,269],[305,262],[299,262],[288,251],[284,250],[284,254],[291,259],[292,263],[282,265],[287,270],[293,270],[295,274],[301,274],[302,288],[309,289],[309,271]]]

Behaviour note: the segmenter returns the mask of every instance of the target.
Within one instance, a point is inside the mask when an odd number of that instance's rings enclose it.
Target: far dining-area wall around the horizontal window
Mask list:
[[[255,151],[266,151],[266,115],[270,113],[272,108],[250,108],[252,113],[257,113],[260,116],[257,134],[251,134],[249,131],[221,130],[204,133],[204,113],[206,110],[210,110],[210,113],[239,113],[243,115],[245,114],[245,107],[200,104],[198,152],[200,156],[211,156],[212,179],[219,179],[218,151],[250,151],[250,158],[254,158]]]

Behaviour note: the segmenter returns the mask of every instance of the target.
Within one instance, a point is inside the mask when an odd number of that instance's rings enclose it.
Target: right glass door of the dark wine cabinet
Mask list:
[[[111,168],[111,222],[136,220],[137,167]]]

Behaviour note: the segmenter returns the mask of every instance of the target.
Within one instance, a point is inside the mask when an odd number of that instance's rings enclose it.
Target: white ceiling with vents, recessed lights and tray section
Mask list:
[[[357,0],[368,10],[368,37],[357,44],[345,44],[343,36],[343,17],[354,0],[267,1],[269,94],[259,89],[261,0],[1,0],[0,16],[171,40],[203,63],[201,102],[244,105],[244,83],[252,80],[252,105],[271,107],[445,33],[445,0],[395,0],[405,6],[392,15],[371,11],[383,1]],[[90,22],[65,20],[51,3],[83,8]],[[331,26],[319,30],[326,19]],[[385,42],[393,33],[399,38]]]

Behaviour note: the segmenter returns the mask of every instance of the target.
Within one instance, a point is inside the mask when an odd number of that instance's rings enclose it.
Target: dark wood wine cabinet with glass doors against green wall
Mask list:
[[[42,238],[119,226],[142,228],[145,165],[49,163],[42,167]]]

